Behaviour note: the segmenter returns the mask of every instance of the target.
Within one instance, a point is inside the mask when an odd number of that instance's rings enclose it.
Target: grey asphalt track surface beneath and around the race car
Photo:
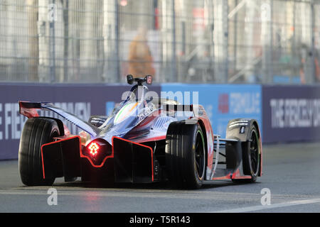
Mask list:
[[[220,181],[199,190],[164,184],[87,187],[57,179],[58,205],[50,187],[25,187],[18,162],[0,162],[0,212],[320,212],[320,143],[264,146],[264,175],[255,184]],[[271,205],[262,206],[261,190]]]

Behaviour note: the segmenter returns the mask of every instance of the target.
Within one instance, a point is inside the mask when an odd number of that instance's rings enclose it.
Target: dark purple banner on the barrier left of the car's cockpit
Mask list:
[[[106,115],[120,102],[129,85],[105,84],[0,84],[0,160],[18,157],[18,143],[26,117],[18,113],[18,101],[48,101],[87,121],[92,115]],[[160,92],[160,86],[150,90]],[[52,111],[41,115],[58,118]],[[71,133],[78,128],[65,121]]]

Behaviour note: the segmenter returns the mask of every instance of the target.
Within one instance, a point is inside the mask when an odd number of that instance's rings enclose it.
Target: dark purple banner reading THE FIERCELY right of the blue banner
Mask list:
[[[319,86],[263,86],[265,143],[320,139]]]

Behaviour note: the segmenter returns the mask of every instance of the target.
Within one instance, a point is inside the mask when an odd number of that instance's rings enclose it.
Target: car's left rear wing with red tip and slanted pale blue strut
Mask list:
[[[55,112],[55,114],[58,114],[59,116],[65,118],[67,121],[70,121],[75,126],[78,126],[83,131],[89,133],[92,136],[97,136],[101,132],[100,128],[92,126],[90,123],[87,123],[86,121],[82,121],[82,119],[78,118],[78,116],[70,114],[57,106],[53,106],[52,103],[19,101],[18,104],[19,113],[23,116],[26,116],[27,118],[38,117],[39,114],[37,109],[43,109]]]

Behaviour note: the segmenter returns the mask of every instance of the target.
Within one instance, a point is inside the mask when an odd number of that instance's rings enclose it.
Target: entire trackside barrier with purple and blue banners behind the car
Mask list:
[[[26,118],[18,114],[18,100],[50,101],[87,120],[110,114],[130,86],[122,84],[0,84],[0,160],[16,159]],[[152,85],[161,96],[181,104],[201,104],[213,133],[225,136],[233,118],[255,118],[262,143],[320,140],[320,86],[257,84]],[[49,117],[57,117],[44,111]],[[65,122],[72,133],[78,129]]]

